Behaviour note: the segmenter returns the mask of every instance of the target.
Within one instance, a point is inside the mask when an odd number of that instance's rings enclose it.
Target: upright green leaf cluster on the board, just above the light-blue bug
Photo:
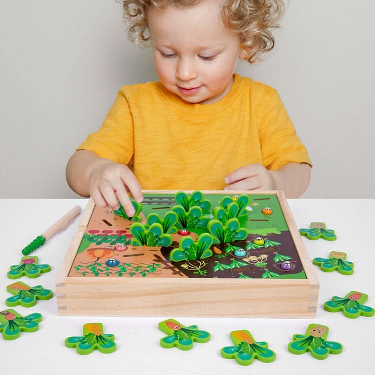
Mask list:
[[[225,225],[219,220],[210,220],[207,229],[213,235],[213,243],[241,241],[247,237],[247,230],[240,228],[237,218],[229,219]]]

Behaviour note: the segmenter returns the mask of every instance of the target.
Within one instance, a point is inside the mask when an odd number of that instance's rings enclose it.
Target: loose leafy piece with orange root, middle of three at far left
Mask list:
[[[32,307],[35,305],[37,299],[45,301],[53,297],[52,290],[43,289],[41,285],[28,286],[21,281],[8,285],[6,290],[14,295],[5,300],[6,305],[9,307],[17,305]]]

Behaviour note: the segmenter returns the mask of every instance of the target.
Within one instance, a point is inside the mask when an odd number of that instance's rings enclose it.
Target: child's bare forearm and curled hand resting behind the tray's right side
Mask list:
[[[308,164],[289,163],[279,170],[252,164],[238,168],[225,177],[225,190],[283,190],[287,198],[299,198],[310,184]]]

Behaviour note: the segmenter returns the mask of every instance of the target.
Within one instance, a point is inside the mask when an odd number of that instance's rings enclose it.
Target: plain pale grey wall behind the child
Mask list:
[[[77,197],[65,165],[124,84],[156,80],[115,0],[0,0],[0,197]],[[314,163],[304,197],[375,197],[375,2],[290,0],[237,71],[275,87]]]

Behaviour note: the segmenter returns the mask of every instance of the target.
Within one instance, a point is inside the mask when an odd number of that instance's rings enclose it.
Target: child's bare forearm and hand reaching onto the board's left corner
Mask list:
[[[141,187],[124,164],[97,156],[88,150],[76,151],[66,165],[66,180],[77,194],[91,196],[100,207],[118,209],[121,202],[129,217],[135,213],[127,191],[137,202],[143,200]]]

